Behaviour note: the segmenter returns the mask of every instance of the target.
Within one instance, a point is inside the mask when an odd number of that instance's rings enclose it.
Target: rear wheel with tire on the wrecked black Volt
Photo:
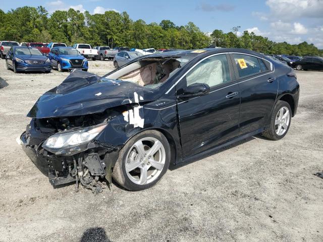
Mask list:
[[[285,115],[286,117],[284,118]],[[288,102],[278,101],[272,114],[270,128],[262,132],[262,135],[270,140],[284,138],[291,125],[291,119],[292,110]]]

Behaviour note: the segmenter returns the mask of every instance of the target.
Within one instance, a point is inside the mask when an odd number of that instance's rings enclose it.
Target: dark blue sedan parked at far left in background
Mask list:
[[[27,46],[13,46],[6,55],[7,69],[17,72],[49,73],[49,59],[38,49]]]

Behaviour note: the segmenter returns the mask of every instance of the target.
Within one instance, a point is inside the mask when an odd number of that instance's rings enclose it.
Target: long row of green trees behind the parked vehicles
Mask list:
[[[185,26],[176,26],[170,20],[146,24],[141,19],[132,21],[127,12],[106,11],[91,15],[88,11],[80,13],[69,9],[55,11],[49,16],[42,6],[21,7],[8,13],[0,9],[1,40],[176,49],[205,48],[213,44],[269,54],[323,55],[323,50],[307,42],[276,43],[248,31],[238,36],[239,29],[240,26],[235,26],[229,33],[216,29],[207,36],[192,22]]]

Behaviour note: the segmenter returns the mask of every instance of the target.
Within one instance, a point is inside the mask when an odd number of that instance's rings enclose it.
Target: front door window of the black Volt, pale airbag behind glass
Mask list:
[[[204,59],[186,75],[186,86],[205,83],[214,87],[231,81],[226,54],[214,55]]]

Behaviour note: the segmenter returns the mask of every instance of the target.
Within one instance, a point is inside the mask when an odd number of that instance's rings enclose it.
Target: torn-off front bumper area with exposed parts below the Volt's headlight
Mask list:
[[[52,186],[76,183],[77,192],[81,183],[92,190],[94,195],[101,193],[104,188],[110,188],[112,168],[118,157],[117,147],[103,145],[102,142],[94,140],[86,144],[86,148],[79,153],[56,155],[42,147],[42,143],[51,133],[44,134],[33,124],[34,119],[20,136],[20,142],[30,160],[43,174],[48,175]],[[107,184],[102,181],[104,179]]]

